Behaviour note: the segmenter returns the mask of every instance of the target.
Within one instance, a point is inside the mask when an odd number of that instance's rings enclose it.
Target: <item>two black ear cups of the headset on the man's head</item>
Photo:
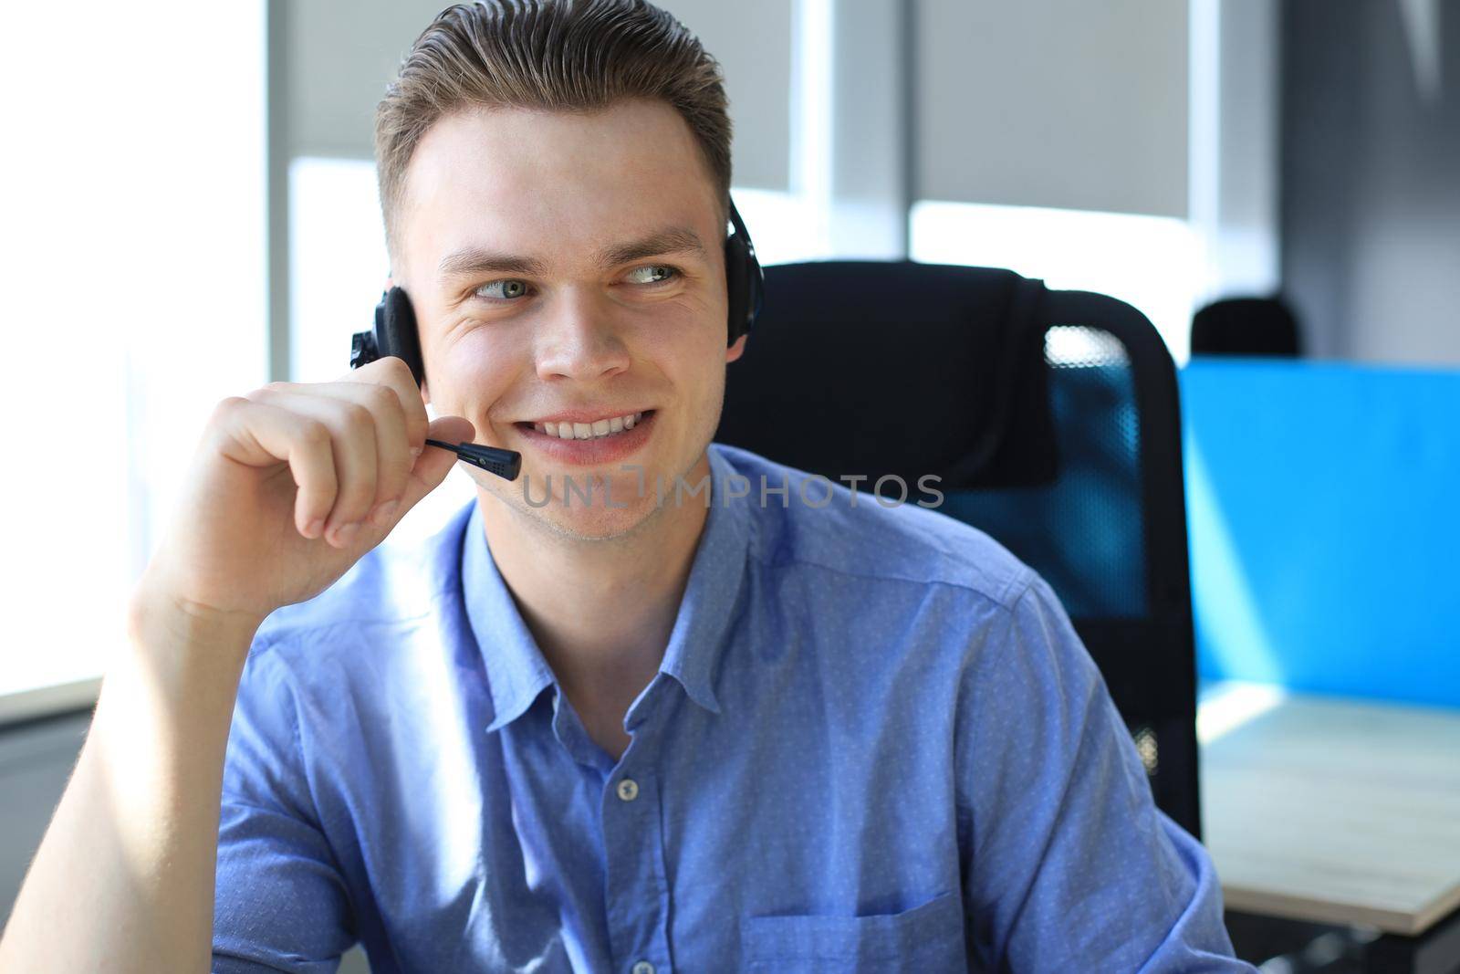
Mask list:
[[[765,296],[765,272],[755,257],[755,244],[740,221],[740,213],[730,200],[730,226],[726,235],[726,289],[730,299],[730,339],[726,346],[750,331],[761,302]],[[375,305],[375,327],[371,331],[356,331],[350,342],[350,368],[359,368],[375,359],[394,355],[404,359],[416,386],[426,377],[426,364],[420,358],[420,333],[416,330],[416,311],[410,298],[400,288],[391,288]]]

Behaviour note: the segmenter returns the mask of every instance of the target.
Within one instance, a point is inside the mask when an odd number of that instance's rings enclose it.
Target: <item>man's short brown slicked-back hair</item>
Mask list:
[[[721,207],[730,199],[730,117],[718,63],[645,0],[477,0],[437,15],[375,110],[385,238],[406,168],[442,115],[473,105],[597,111],[625,98],[669,102],[694,133]]]

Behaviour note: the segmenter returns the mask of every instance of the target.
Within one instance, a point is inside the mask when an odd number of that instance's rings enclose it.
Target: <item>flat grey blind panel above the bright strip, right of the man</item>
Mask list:
[[[1187,215],[1187,4],[920,0],[918,199]]]

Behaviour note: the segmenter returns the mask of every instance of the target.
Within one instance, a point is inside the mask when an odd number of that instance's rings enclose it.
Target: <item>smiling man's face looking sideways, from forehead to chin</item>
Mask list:
[[[523,454],[514,482],[472,472],[479,491],[559,534],[613,537],[656,513],[656,478],[667,507],[676,478],[708,473],[745,342],[726,348],[724,222],[670,105],[448,115],[416,147],[399,228],[429,402]],[[566,440],[562,422],[585,425]]]

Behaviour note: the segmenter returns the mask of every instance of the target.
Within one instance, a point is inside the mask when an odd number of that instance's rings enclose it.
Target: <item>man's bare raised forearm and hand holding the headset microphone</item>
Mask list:
[[[207,970],[223,761],[254,632],[445,479],[456,454],[418,456],[428,432],[473,435],[460,416],[428,423],[397,358],[219,403],[0,935],[0,974]]]

